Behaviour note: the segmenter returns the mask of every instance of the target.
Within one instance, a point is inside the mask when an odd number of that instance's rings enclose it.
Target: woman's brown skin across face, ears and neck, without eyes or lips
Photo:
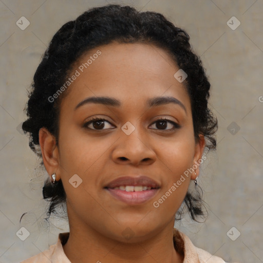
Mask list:
[[[45,168],[62,180],[67,195],[70,236],[64,252],[72,263],[182,262],[173,245],[175,214],[199,167],[158,208],[153,206],[201,158],[204,148],[204,138],[194,138],[189,95],[174,78],[179,68],[161,48],[114,42],[90,50],[72,72],[98,49],[102,54],[62,100],[59,146],[45,128],[39,133]],[[121,106],[91,103],[74,110],[91,96],[113,97]],[[157,96],[178,99],[186,111],[173,103],[149,108],[146,100]],[[92,123],[90,129],[83,127],[91,117],[108,122],[103,130]],[[163,117],[181,127],[171,130],[173,125],[166,122],[160,128],[156,121]],[[121,129],[127,121],[135,127],[130,135]],[[69,183],[74,174],[83,180],[76,188]],[[103,188],[118,177],[139,174],[161,185],[145,203],[128,205]],[[127,228],[133,233],[130,239],[122,235]]]

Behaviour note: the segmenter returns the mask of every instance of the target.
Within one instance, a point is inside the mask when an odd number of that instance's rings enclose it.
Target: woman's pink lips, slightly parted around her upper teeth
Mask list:
[[[120,189],[114,189],[119,186],[147,186],[152,187],[150,190],[138,192],[126,192]],[[152,199],[158,192],[160,185],[153,179],[146,176],[139,177],[120,177],[104,187],[110,195],[127,204],[141,204]]]

